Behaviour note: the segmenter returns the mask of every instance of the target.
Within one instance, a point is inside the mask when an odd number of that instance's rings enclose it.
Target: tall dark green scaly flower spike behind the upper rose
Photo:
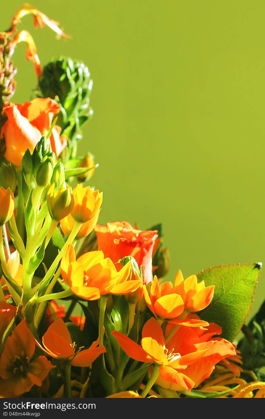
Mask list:
[[[82,139],[81,127],[93,115],[89,106],[92,85],[90,72],[82,61],[59,57],[43,68],[37,94],[59,103],[57,125],[69,140],[69,147],[62,153],[63,161],[75,157],[77,142]]]

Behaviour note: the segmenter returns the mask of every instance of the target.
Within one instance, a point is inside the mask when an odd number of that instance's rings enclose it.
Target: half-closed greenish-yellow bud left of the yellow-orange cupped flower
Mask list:
[[[54,190],[55,185],[51,184],[47,192],[47,204],[51,218],[62,220],[72,211],[74,206],[74,197],[72,188]]]

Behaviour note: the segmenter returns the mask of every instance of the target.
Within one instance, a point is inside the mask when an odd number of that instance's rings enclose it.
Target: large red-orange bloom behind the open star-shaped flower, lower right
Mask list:
[[[198,318],[196,315],[193,317]],[[172,324],[167,323],[164,332],[166,336],[172,327]],[[232,343],[226,339],[212,338],[216,334],[221,334],[221,331],[221,327],[215,323],[210,323],[206,327],[195,328],[180,326],[167,343],[167,349],[169,351],[174,350],[180,352],[183,356],[189,354],[191,350],[203,351],[208,349],[208,352],[201,359],[188,365],[185,369],[185,375],[194,382],[194,387],[198,387],[203,380],[211,375],[218,362],[225,358],[233,357],[236,354]],[[179,383],[171,383],[169,385],[165,377],[158,378],[157,384],[164,388],[170,388],[171,390],[183,390]]]

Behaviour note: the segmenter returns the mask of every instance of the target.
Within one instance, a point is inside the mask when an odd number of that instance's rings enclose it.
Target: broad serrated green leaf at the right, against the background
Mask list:
[[[261,264],[216,266],[197,275],[206,287],[215,285],[214,298],[198,313],[205,321],[219,324],[221,336],[233,341],[250,312]]]

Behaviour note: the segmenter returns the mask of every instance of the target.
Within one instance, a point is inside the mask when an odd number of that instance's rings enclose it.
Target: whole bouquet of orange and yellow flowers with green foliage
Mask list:
[[[90,73],[69,57],[41,69],[28,14],[67,37],[28,3],[0,32],[0,397],[264,398],[265,305],[245,324],[261,264],[165,282],[161,225],[98,224],[97,165],[77,155]],[[21,41],[38,81],[18,104]]]

